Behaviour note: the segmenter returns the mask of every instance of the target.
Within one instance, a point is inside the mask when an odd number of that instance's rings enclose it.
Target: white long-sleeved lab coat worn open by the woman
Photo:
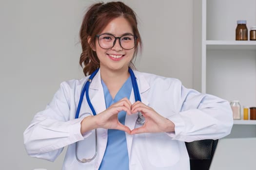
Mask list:
[[[89,89],[97,113],[106,109],[99,72]],[[173,121],[175,133],[126,134],[130,170],[189,170],[184,141],[217,139],[230,133],[233,117],[227,101],[187,89],[177,79],[134,72],[141,101]],[[82,164],[75,155],[77,141],[80,159],[90,158],[95,152],[95,132],[80,134],[81,120],[92,114],[85,97],[79,119],[74,119],[87,78],[61,83],[52,102],[34,117],[24,132],[29,155],[54,161],[63,147],[69,145],[63,170],[98,170],[107,144],[107,129],[98,129],[98,154],[93,161]],[[130,101],[135,102],[133,92]],[[138,127],[137,117],[126,116],[125,125],[130,129]]]

